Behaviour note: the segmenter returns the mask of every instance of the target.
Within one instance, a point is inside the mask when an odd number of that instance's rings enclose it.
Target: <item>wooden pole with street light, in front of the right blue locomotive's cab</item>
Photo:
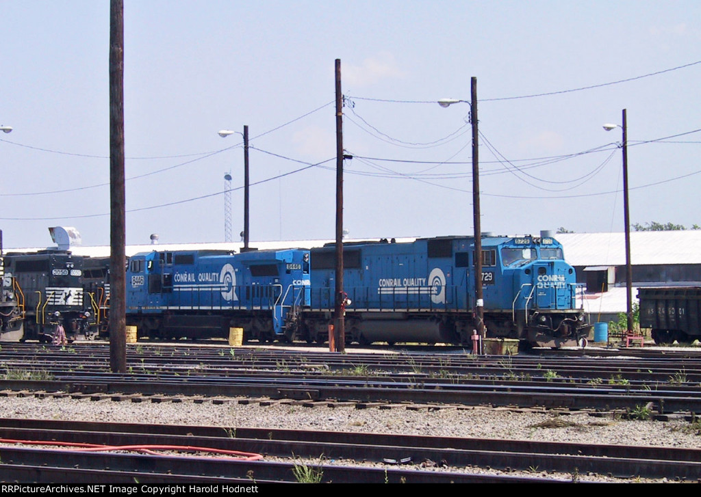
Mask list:
[[[479,349],[484,350],[484,297],[482,292],[482,228],[479,223],[479,155],[477,149],[477,78],[471,80],[470,102],[458,99],[440,99],[438,105],[448,107],[452,104],[463,102],[470,104],[470,123],[472,124],[472,218],[475,226],[475,319],[477,320],[477,335],[479,335]]]

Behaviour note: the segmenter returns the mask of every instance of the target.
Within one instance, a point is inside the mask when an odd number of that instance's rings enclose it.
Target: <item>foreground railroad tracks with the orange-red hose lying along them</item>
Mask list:
[[[200,483],[292,482],[303,460],[324,482],[543,482],[562,477],[517,476],[515,471],[596,473],[613,477],[701,479],[701,450],[663,447],[625,447],[416,435],[317,432],[214,426],[175,426],[133,423],[91,423],[3,419],[4,440],[102,444],[110,447],[189,446],[219,451],[260,453],[275,461],[245,461],[182,454],[86,454],[59,449],[0,447],[4,479],[32,482],[75,481],[102,475],[102,483],[177,483],[195,478]],[[351,442],[351,440],[353,442]],[[287,461],[280,461],[286,458]],[[332,463],[341,461],[341,463]],[[351,461],[385,463],[364,466]],[[46,464],[41,470],[41,464]],[[418,469],[419,465],[425,466]],[[428,466],[428,468],[426,468]],[[469,472],[472,466],[502,470],[502,474]],[[69,470],[61,479],[60,469]],[[430,470],[429,468],[434,468]],[[118,471],[118,472],[116,472]],[[27,479],[28,478],[28,479]],[[81,481],[83,481],[81,479]],[[89,479],[86,483],[99,479]]]

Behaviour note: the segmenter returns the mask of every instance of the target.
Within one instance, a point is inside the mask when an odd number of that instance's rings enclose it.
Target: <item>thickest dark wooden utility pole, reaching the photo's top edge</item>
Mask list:
[[[109,4],[109,365],[127,371],[124,193],[124,3]]]

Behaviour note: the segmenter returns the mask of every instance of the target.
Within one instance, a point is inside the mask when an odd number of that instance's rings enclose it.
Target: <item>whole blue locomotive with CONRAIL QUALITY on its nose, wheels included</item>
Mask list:
[[[469,344],[476,328],[474,239],[344,244],[346,339]],[[311,308],[301,336],[327,339],[334,309],[335,248],[311,251]],[[537,346],[582,345],[590,332],[576,306],[576,275],[550,237],[483,237],[487,337]]]

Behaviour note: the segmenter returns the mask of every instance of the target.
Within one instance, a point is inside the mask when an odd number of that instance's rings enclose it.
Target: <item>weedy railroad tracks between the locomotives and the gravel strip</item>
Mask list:
[[[0,389],[83,395],[248,395],[297,400],[701,412],[701,359],[329,354],[130,346],[128,374],[104,344],[3,345]]]

